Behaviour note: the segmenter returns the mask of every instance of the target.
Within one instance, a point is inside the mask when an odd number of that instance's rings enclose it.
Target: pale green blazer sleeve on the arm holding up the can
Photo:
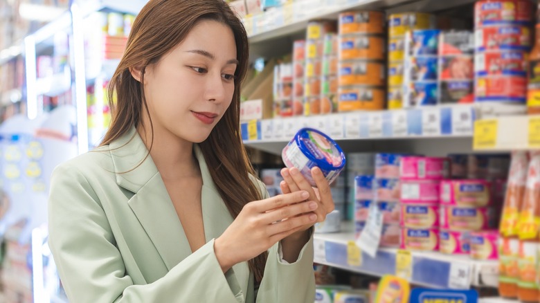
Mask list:
[[[262,186],[263,199],[268,198],[268,192]],[[315,301],[315,273],[313,270],[313,230],[312,236],[300,250],[300,255],[294,263],[287,263],[280,256],[281,242],[269,250],[264,276],[259,286],[256,303],[298,302],[312,303]]]

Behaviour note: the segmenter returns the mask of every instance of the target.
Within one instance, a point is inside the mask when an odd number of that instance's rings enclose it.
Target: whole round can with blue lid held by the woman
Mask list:
[[[345,154],[332,138],[316,129],[303,128],[282,150],[283,162],[287,167],[296,167],[314,187],[311,169],[319,167],[328,183],[332,183],[343,167]]]

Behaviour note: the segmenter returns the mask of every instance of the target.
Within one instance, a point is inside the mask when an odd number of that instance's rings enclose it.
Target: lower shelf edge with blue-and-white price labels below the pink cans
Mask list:
[[[410,253],[407,278],[412,284],[430,288],[461,289],[498,285],[498,261],[478,261],[468,256],[379,248],[375,258],[366,252],[360,252],[361,256],[355,257],[353,261],[349,246],[354,243],[354,232],[348,231],[352,230],[352,224],[345,223],[343,230],[345,232],[314,235],[316,263],[368,275],[396,275],[397,267],[403,270],[402,264],[398,264],[401,263],[397,261],[398,256]]]

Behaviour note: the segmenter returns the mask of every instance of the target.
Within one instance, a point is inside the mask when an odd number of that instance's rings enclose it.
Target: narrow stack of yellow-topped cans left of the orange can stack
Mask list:
[[[324,37],[336,32],[336,22],[332,20],[309,21],[305,40],[306,64],[304,77],[304,114],[321,113],[321,65]]]

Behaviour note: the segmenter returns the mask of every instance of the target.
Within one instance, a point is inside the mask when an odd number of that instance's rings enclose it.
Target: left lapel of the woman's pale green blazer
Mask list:
[[[134,193],[127,203],[170,270],[191,249],[165,183],[134,127],[109,147],[116,183]]]

